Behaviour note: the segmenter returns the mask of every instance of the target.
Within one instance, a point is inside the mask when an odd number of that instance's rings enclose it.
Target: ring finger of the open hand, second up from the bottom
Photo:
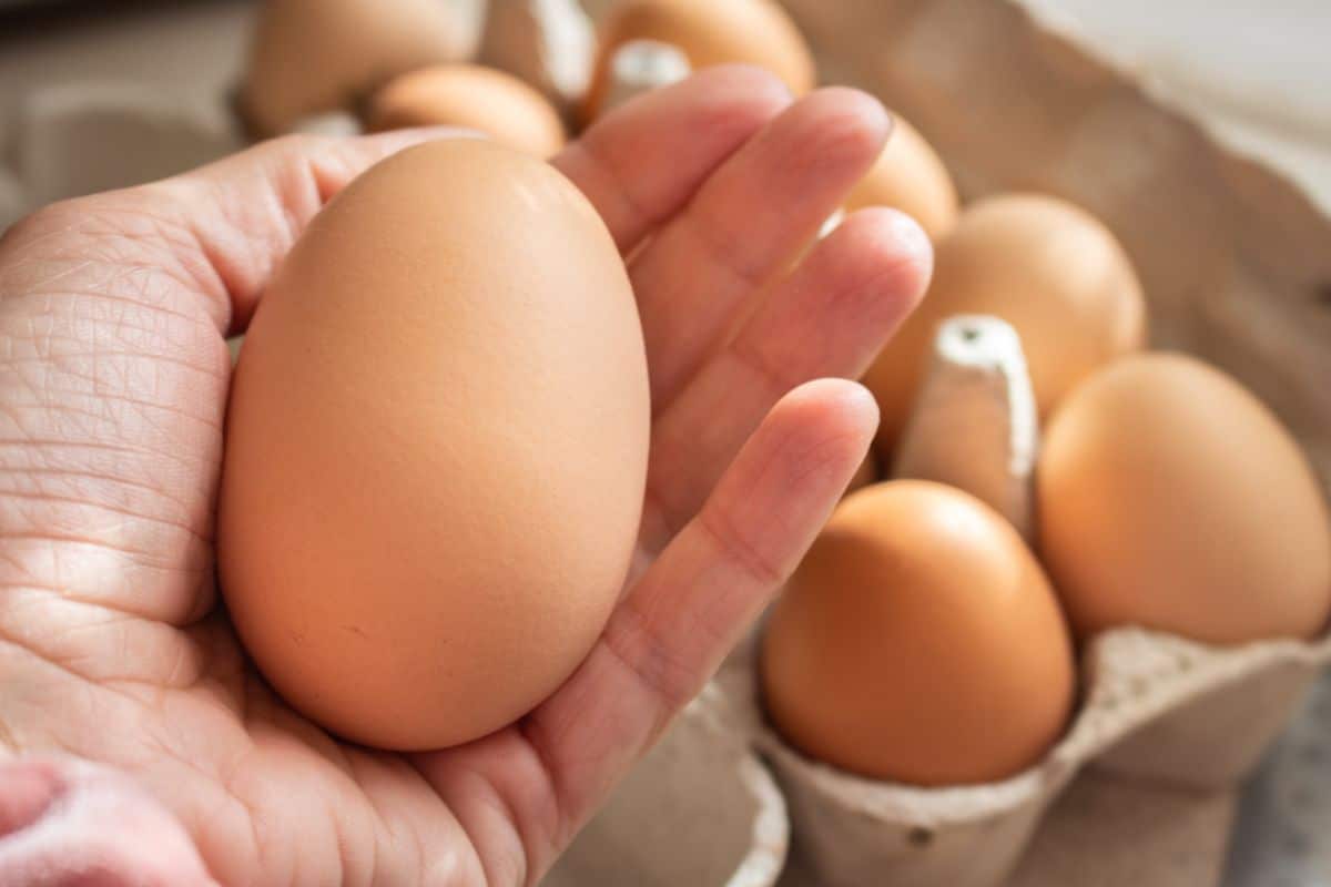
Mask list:
[[[659,549],[697,512],[783,394],[820,376],[857,379],[922,297],[932,266],[920,226],[888,209],[853,214],[815,246],[658,416],[643,544]]]

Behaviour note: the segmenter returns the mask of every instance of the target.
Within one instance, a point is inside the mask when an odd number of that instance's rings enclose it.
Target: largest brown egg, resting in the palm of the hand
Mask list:
[[[379,164],[287,255],[236,370],[218,557],[245,648],[365,745],[512,722],[615,605],[648,420],[624,265],[574,185],[479,140]]]

